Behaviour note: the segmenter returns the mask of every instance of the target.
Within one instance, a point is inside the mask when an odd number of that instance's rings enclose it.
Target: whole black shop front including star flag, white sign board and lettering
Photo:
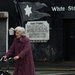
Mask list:
[[[2,1],[2,4],[4,6],[0,5],[1,11],[9,13],[8,25],[6,20],[0,19],[1,29],[6,26],[2,31],[6,32],[6,28],[9,30],[16,26],[26,28],[37,67],[51,67],[54,66],[52,63],[75,61],[74,0],[9,0],[6,3]],[[4,47],[1,44],[0,52],[3,48],[6,52],[6,47],[10,47],[15,35],[7,32],[2,32],[1,35],[0,38],[5,37],[7,41],[3,41]]]

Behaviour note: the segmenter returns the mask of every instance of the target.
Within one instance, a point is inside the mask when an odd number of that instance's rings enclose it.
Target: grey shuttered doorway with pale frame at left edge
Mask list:
[[[8,51],[8,12],[0,12],[0,57]]]

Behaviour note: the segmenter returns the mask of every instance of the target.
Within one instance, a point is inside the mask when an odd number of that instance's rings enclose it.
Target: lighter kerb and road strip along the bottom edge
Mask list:
[[[4,71],[6,69],[4,68]],[[13,75],[14,68],[9,69]],[[36,68],[36,75],[75,75],[75,68]]]

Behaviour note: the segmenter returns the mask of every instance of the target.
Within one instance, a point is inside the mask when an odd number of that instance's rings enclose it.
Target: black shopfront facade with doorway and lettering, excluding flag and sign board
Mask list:
[[[16,2],[18,3],[16,6]],[[44,3],[47,6],[38,9],[50,16],[38,19],[22,20],[19,3]],[[38,6],[39,7],[39,6]],[[74,0],[0,0],[0,11],[9,13],[8,29],[18,25],[24,27],[28,21],[47,21],[49,23],[49,40],[31,42],[35,64],[75,61],[75,1]],[[35,17],[35,16],[34,16]],[[8,35],[10,47],[15,36]],[[42,65],[42,64],[41,64]],[[47,65],[47,64],[46,64]]]

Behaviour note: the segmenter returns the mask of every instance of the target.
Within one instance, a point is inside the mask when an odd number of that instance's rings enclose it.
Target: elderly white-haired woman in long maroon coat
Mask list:
[[[30,41],[25,36],[25,29],[23,27],[16,27],[16,38],[13,41],[10,49],[3,56],[5,59],[15,53],[14,60],[15,71],[13,75],[35,75],[34,62]]]

